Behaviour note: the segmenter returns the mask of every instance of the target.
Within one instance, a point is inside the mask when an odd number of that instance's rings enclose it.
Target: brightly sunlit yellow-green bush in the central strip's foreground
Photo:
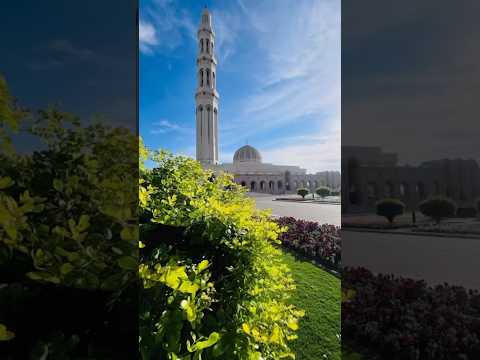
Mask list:
[[[302,312],[281,262],[279,226],[225,174],[166,152],[141,168],[143,359],[294,357]]]

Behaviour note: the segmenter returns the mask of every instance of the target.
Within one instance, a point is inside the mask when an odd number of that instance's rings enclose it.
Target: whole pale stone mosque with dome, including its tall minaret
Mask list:
[[[197,32],[197,89],[195,92],[196,113],[196,158],[205,167],[234,175],[234,181],[251,192],[286,194],[296,193],[300,187],[314,191],[323,185],[338,190],[340,172],[322,171],[307,174],[298,166],[264,163],[260,152],[250,145],[238,149],[232,163],[219,163],[218,116],[219,94],[216,88],[217,59],[215,57],[215,33],[212,16],[205,8]]]

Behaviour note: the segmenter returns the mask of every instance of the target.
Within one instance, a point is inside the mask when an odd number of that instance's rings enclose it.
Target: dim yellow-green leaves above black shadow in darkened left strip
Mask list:
[[[17,154],[15,130],[43,145]],[[20,111],[0,78],[0,142],[1,260],[26,258],[31,279],[82,288],[136,279],[136,137],[54,107]]]

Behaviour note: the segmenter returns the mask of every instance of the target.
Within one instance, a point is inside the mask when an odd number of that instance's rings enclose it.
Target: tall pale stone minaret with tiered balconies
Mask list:
[[[212,16],[202,12],[197,32],[197,91],[195,113],[197,124],[197,160],[204,165],[218,164],[218,92],[217,59],[214,55],[215,33]]]

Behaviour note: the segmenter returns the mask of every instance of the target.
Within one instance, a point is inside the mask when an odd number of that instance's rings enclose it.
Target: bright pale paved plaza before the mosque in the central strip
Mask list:
[[[255,199],[258,209],[272,209],[273,216],[293,216],[297,219],[337,226],[341,224],[341,207],[338,204],[276,201],[276,196],[261,194],[249,196]]]

